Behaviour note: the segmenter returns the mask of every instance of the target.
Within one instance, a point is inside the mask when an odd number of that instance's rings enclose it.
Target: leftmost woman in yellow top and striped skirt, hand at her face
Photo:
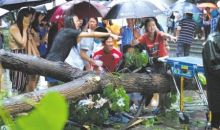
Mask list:
[[[9,28],[9,47],[11,52],[26,54],[27,30],[33,13],[34,9],[32,8],[19,10],[16,23]],[[18,93],[25,92],[27,84],[26,73],[10,70],[10,80],[13,91],[18,91]]]

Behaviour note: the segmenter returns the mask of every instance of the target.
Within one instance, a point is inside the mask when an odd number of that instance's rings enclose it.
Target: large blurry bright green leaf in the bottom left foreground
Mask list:
[[[16,130],[62,130],[68,118],[68,105],[63,96],[51,92],[36,108],[15,122]]]

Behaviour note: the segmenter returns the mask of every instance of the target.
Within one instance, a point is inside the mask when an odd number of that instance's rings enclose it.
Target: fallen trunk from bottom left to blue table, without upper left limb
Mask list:
[[[54,86],[46,90],[36,91],[21,94],[11,97],[3,101],[2,105],[11,114],[25,112],[30,110],[33,106],[26,102],[32,100],[39,102],[40,99],[48,92],[57,91],[61,93],[66,99],[79,99],[89,93],[97,92],[101,90],[101,87],[108,83],[115,83],[117,85],[123,85],[127,92],[168,92],[170,91],[169,82],[166,81],[165,76],[154,75],[149,77],[146,74],[122,74],[120,78],[113,78],[112,75],[105,75],[100,81],[96,80],[95,75],[87,74],[79,79],[65,83],[63,85]],[[128,80],[131,78],[132,80]],[[114,81],[112,81],[114,79]],[[165,82],[157,82],[157,80],[163,80]],[[148,81],[152,81],[149,83]],[[161,84],[162,83],[162,84]]]

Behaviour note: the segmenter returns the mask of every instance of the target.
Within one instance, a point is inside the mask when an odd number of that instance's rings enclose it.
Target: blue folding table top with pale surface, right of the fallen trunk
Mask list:
[[[198,57],[170,57],[166,63],[171,66],[175,76],[192,78],[198,72],[204,73],[202,58]]]

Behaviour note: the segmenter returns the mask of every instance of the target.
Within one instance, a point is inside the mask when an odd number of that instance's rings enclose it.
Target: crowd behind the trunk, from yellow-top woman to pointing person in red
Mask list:
[[[132,18],[127,19],[126,26],[120,27],[111,20],[98,21],[95,17],[83,24],[77,15],[65,16],[63,20],[49,24],[45,15],[30,7],[18,11],[16,22],[9,27],[11,52],[65,62],[100,75],[117,71],[124,60],[123,55],[138,44],[145,46],[154,59],[168,56],[167,39],[176,39],[159,30],[161,26],[155,17],[145,18],[141,28]],[[152,66],[159,73],[161,63],[154,62]],[[36,89],[39,76],[10,70],[10,80],[13,91],[25,93]],[[59,83],[51,77],[45,77],[45,80],[49,87]],[[159,96],[156,97],[159,100]]]

